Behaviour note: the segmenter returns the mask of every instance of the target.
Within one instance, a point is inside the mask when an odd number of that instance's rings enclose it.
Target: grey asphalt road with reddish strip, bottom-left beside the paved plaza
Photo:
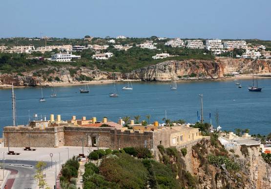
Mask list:
[[[48,168],[51,162],[46,163]],[[37,161],[5,160],[5,168],[11,170],[7,180],[8,189],[36,189],[37,180],[34,178],[36,164]]]

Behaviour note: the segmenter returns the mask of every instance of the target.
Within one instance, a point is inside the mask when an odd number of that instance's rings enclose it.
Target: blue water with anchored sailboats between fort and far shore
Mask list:
[[[271,79],[259,79],[262,92],[249,92],[251,80],[238,80],[242,88],[232,80],[189,81],[177,83],[177,90],[170,90],[170,83],[134,82],[132,91],[123,91],[126,83],[117,83],[119,97],[109,97],[114,85],[89,85],[90,92],[81,94],[83,86],[55,87],[57,97],[50,97],[51,88],[43,88],[45,102],[39,102],[41,88],[16,88],[16,124],[25,125],[31,119],[49,119],[50,114],[61,115],[62,120],[106,116],[117,122],[120,117],[141,115],[150,122],[163,118],[184,119],[187,123],[198,121],[200,94],[203,95],[204,121],[222,130],[250,129],[250,133],[267,135],[271,132]],[[38,117],[34,117],[37,114]],[[218,120],[216,119],[218,115]],[[11,89],[0,89],[0,132],[12,125]]]

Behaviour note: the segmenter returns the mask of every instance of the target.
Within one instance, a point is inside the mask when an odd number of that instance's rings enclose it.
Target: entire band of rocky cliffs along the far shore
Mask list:
[[[252,73],[252,67],[259,74],[271,74],[271,60],[250,60],[216,58],[215,60],[165,61],[156,65],[134,70],[130,73],[112,73],[81,67],[48,66],[33,71],[1,74],[0,86],[12,82],[16,86],[38,86],[57,83],[80,83],[83,80],[137,79],[142,81],[163,81],[171,79],[217,79],[232,72]]]

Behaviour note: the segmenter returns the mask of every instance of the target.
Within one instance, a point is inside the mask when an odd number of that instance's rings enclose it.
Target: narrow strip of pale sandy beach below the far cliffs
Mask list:
[[[247,75],[239,75],[239,76],[228,76],[228,77],[220,77],[220,78],[189,78],[189,79],[178,79],[175,80],[176,82],[191,82],[191,81],[196,81],[196,82],[202,82],[202,81],[223,81],[223,80],[233,80],[233,79],[251,79],[252,75],[247,74]],[[264,78],[271,78],[271,75],[259,75],[258,79],[264,79]],[[125,83],[128,81],[132,82],[156,82],[156,83],[163,83],[163,82],[171,82],[172,80],[158,80],[158,81],[142,81],[141,79],[121,79],[121,80],[94,80],[94,81],[86,81],[86,82],[50,82],[50,83],[44,83],[42,87],[69,87],[69,86],[81,86],[81,85],[103,85],[103,84],[110,84],[110,83]],[[38,86],[33,86],[33,87],[38,87]],[[12,85],[9,84],[3,84],[0,85],[0,89],[10,89],[12,88]],[[31,88],[31,86],[14,86],[14,88]]]

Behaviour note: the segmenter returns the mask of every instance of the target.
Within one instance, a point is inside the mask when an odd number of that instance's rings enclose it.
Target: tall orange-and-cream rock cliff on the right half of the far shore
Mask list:
[[[271,61],[233,58],[215,60],[166,61],[145,68],[134,70],[130,78],[146,81],[181,79],[216,79],[232,72],[252,73],[252,66],[259,74],[271,73]],[[125,77],[125,76],[124,76]]]

